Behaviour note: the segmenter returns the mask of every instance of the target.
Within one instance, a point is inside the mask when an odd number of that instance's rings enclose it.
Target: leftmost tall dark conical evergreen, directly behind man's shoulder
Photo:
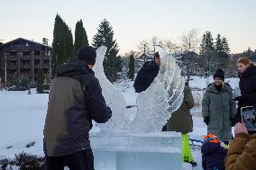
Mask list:
[[[60,18],[57,13],[54,22],[51,71],[52,76],[56,74],[56,68],[67,62],[68,58],[73,57],[73,37],[68,25]]]

